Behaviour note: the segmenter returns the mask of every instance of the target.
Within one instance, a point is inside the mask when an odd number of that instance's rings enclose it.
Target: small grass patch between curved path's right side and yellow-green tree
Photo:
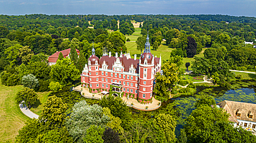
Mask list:
[[[41,115],[43,105],[46,102],[48,95],[51,94],[51,91],[46,92],[37,92],[37,95],[39,96],[37,102],[31,106],[30,110],[36,113],[37,115]]]

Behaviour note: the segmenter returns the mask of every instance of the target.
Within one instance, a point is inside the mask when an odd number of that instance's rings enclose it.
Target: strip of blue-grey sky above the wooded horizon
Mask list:
[[[0,0],[0,14],[228,14],[256,17],[256,0]]]

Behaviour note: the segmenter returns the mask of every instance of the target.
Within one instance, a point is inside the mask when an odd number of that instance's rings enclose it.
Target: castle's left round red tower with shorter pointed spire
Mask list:
[[[99,89],[100,88],[100,60],[97,56],[95,56],[95,49],[93,47],[92,55],[88,59],[89,65],[89,87],[91,89]],[[93,93],[97,93],[97,90],[91,90]]]

